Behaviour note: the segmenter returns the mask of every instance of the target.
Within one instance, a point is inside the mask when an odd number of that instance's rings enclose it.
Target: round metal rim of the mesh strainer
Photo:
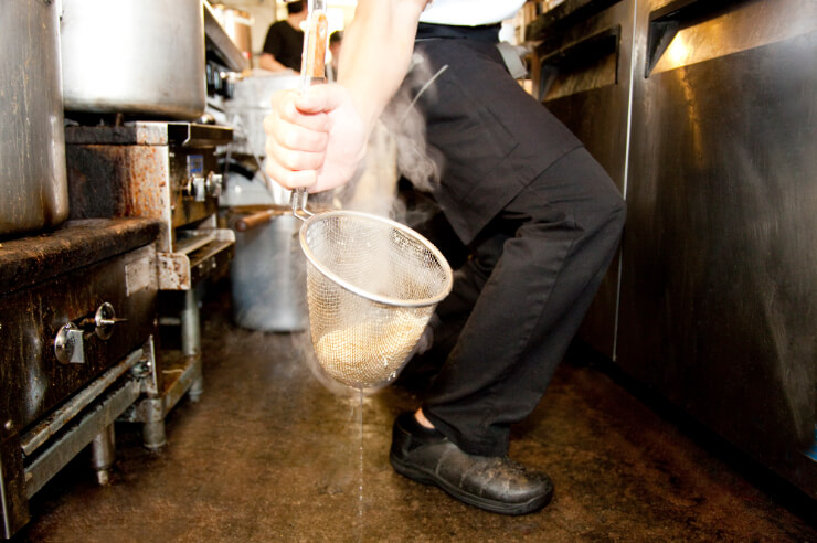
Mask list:
[[[445,288],[439,295],[434,296],[432,298],[404,300],[401,298],[393,298],[391,296],[374,295],[372,292],[367,291],[363,288],[352,285],[351,283],[347,281],[346,279],[342,279],[340,276],[338,276],[330,269],[327,269],[327,267],[323,266],[323,264],[321,264],[318,260],[318,258],[315,256],[315,253],[312,253],[312,249],[309,247],[309,244],[307,243],[307,231],[312,224],[321,222],[321,221],[326,221],[327,219],[331,219],[333,216],[340,216],[340,217],[353,216],[353,217],[363,219],[365,221],[383,223],[393,228],[400,230],[401,232],[408,235],[410,237],[417,239],[421,244],[423,244],[425,248],[428,249],[428,252],[432,253],[432,255],[434,255],[434,257],[439,263],[441,267],[445,270],[445,276],[446,276],[445,277]],[[312,266],[315,266],[315,268],[318,272],[320,272],[325,277],[327,277],[331,281],[349,290],[350,292],[356,294],[368,300],[375,301],[378,304],[383,304],[385,306],[417,308],[417,307],[426,307],[426,306],[433,306],[433,305],[439,304],[452,291],[452,286],[454,285],[454,275],[452,273],[450,265],[448,264],[448,260],[445,258],[445,256],[443,256],[443,253],[432,242],[426,239],[424,236],[418,234],[416,231],[396,221],[392,221],[391,219],[385,219],[379,215],[372,215],[371,213],[362,213],[359,211],[327,211],[323,213],[317,213],[315,215],[311,215],[309,219],[307,219],[304,222],[304,224],[301,224],[300,232],[298,235],[300,239],[300,248],[304,251],[304,254],[306,255],[307,259],[312,264]]]

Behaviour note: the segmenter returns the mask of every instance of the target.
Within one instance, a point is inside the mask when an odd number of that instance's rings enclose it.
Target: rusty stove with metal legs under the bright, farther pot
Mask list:
[[[145,423],[145,445],[165,445],[165,417],[203,390],[198,289],[226,272],[235,234],[217,227],[222,177],[216,150],[232,129],[177,121],[73,126],[65,130],[73,217],[151,217],[157,244],[160,323],[178,327],[180,349],[160,349],[146,396],[125,415]]]

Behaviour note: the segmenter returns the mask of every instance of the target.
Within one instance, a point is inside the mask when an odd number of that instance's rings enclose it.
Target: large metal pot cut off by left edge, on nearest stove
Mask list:
[[[68,215],[57,8],[3,2],[0,15],[0,236]]]

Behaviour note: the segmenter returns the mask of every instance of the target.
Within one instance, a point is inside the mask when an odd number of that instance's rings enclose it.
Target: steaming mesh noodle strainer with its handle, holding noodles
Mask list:
[[[300,91],[325,82],[326,0],[309,0]],[[435,307],[452,289],[452,269],[425,237],[395,221],[353,211],[314,214],[305,189],[293,191],[304,221],[312,348],[332,379],[353,388],[393,380]]]

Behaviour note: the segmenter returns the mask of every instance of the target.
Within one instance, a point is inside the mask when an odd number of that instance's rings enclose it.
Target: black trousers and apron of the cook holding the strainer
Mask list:
[[[423,411],[464,450],[502,456],[537,406],[611,263],[625,204],[490,43],[417,43],[436,72],[420,105],[445,158],[434,191],[471,255],[437,308],[441,366]]]

